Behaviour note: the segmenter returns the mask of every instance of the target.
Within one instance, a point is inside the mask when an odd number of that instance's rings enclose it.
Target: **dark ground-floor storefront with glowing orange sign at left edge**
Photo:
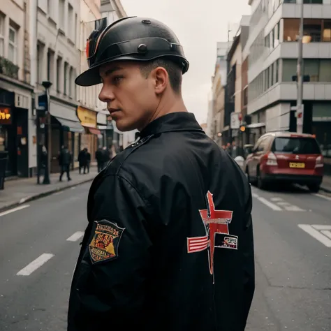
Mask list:
[[[0,89],[0,151],[8,153],[6,176],[29,177],[28,108],[31,96],[30,99],[25,96],[21,104],[17,102],[19,95]]]

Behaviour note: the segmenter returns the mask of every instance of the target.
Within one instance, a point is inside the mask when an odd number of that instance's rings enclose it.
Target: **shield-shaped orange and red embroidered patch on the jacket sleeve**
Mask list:
[[[92,263],[112,260],[118,256],[119,241],[125,228],[103,219],[96,221],[96,230],[89,244]]]

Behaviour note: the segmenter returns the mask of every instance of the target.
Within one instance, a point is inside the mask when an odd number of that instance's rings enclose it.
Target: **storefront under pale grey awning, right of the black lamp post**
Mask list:
[[[77,168],[78,154],[80,152],[80,134],[84,133],[84,128],[76,115],[76,108],[73,105],[51,99],[50,115],[52,115],[51,172],[59,172],[57,156],[62,146],[68,147],[73,155],[72,168]]]

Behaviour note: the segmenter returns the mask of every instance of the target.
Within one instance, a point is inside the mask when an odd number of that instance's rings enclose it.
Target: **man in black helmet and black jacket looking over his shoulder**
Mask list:
[[[187,112],[189,68],[163,23],[126,17],[88,41],[120,131],[140,140],[94,180],[68,330],[244,330],[254,290],[251,190]]]

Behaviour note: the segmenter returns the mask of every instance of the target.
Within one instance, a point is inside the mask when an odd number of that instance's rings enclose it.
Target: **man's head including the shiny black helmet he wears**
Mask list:
[[[104,20],[89,36],[89,69],[76,84],[103,83],[99,98],[120,131],[141,130],[166,112],[185,110],[180,87],[189,62],[174,32],[144,17],[124,17],[108,27]]]

